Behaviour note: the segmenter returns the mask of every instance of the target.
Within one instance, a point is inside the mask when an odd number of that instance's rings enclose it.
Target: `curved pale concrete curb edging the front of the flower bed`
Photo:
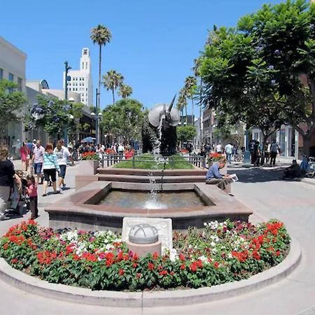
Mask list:
[[[285,279],[299,265],[302,258],[300,244],[291,239],[290,252],[283,262],[271,269],[252,276],[250,279],[225,283],[211,288],[189,290],[116,292],[92,291],[88,288],[76,288],[64,284],[49,283],[13,269],[0,258],[0,279],[6,283],[25,290],[27,293],[44,297],[92,304],[106,307],[165,307],[182,306],[204,302],[212,302],[235,297],[258,290]]]

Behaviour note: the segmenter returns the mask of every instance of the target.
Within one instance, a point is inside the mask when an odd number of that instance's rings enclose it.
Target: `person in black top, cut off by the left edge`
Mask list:
[[[14,165],[8,160],[8,148],[0,147],[0,220],[6,220],[10,191],[13,188]]]

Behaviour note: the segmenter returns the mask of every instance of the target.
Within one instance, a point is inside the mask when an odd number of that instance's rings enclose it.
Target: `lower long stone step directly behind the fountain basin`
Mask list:
[[[129,183],[150,183],[151,176],[120,175],[120,174],[99,174],[99,181],[124,181]],[[156,183],[162,182],[162,176],[153,176]],[[163,176],[163,183],[202,183],[205,175],[202,176]]]

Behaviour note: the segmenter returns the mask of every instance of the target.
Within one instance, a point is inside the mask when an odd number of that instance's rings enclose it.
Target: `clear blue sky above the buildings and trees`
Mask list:
[[[199,55],[213,25],[234,26],[246,13],[278,0],[55,0],[2,1],[1,36],[27,53],[27,79],[45,78],[62,88],[67,60],[78,69],[83,47],[90,48],[92,77],[97,87],[98,48],[90,29],[111,29],[103,49],[102,73],[116,69],[134,94],[150,108],[170,102]],[[102,88],[101,107],[111,103]]]

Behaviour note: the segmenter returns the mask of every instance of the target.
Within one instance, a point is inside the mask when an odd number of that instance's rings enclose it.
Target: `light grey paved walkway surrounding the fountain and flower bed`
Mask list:
[[[73,191],[74,175],[80,171],[79,165],[67,169],[66,182]],[[302,263],[287,279],[262,290],[233,297],[218,302],[195,304],[185,307],[158,307],[154,309],[119,309],[74,304],[38,297],[17,290],[0,281],[0,314],[50,315],[50,314],[315,314],[315,186],[304,182],[280,181],[281,169],[229,168],[237,173],[239,182],[233,184],[232,193],[237,200],[257,211],[259,218],[282,220],[290,235],[302,245]],[[40,188],[41,190],[42,188]],[[61,198],[60,195],[39,197],[41,215],[38,223],[48,225],[48,216],[43,211],[45,204]],[[29,214],[25,215],[28,218]],[[0,233],[22,221],[15,218],[0,222]]]

